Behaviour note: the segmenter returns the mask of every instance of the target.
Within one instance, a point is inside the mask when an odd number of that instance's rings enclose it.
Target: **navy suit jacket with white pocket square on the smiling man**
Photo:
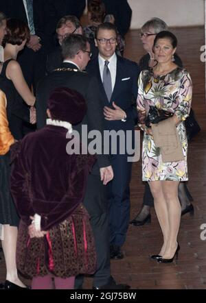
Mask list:
[[[117,106],[126,112],[126,122],[122,122],[121,120],[104,120],[104,128],[107,130],[133,130],[135,123],[137,123],[138,64],[127,60],[126,58],[117,56],[115,87],[113,89],[110,102],[108,102],[104,86],[102,84],[98,58],[95,58],[93,62],[89,62],[87,71],[90,75],[93,75],[98,79],[104,106],[113,108],[112,102],[114,101]]]

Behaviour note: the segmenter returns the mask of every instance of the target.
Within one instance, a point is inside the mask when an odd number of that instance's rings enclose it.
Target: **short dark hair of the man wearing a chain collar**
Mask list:
[[[84,51],[87,49],[87,43],[89,40],[79,34],[71,34],[62,41],[62,57],[73,59],[78,51]]]

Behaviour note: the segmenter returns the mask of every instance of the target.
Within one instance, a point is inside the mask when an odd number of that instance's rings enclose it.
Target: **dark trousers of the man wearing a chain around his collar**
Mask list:
[[[106,186],[100,181],[100,176],[89,175],[83,204],[90,215],[97,254],[97,269],[93,274],[93,287],[100,287],[108,284],[111,276]],[[77,276],[75,289],[81,289],[83,282],[84,276]]]

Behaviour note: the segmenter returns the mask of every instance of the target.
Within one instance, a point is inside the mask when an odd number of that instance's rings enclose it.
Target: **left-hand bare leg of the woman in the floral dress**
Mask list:
[[[160,256],[163,256],[165,253],[165,248],[168,246],[168,239],[170,235],[170,224],[168,218],[168,208],[162,191],[162,182],[163,181],[154,181],[149,182],[152,195],[154,197],[155,212],[163,233],[163,246],[159,252]]]

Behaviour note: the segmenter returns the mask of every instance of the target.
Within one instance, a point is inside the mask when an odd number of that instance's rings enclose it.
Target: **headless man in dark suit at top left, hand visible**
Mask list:
[[[51,51],[54,43],[52,34],[55,26],[49,16],[49,1],[0,1],[0,11],[8,18],[25,21],[30,27],[30,41],[19,54],[18,61],[27,84],[30,87],[33,85],[35,92],[38,80],[45,75],[47,53]]]

